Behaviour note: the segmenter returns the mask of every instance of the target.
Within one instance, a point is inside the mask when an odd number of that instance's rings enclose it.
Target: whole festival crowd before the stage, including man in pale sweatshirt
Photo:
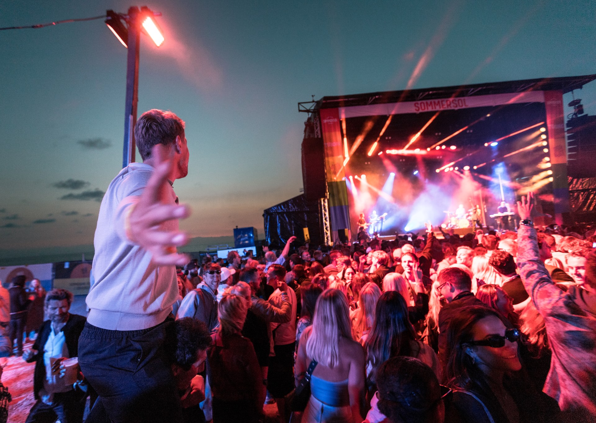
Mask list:
[[[427,224],[189,262],[184,123],[145,112],[135,138],[144,162],[101,205],[86,321],[69,293],[45,296],[28,422],[80,422],[88,396],[89,423],[259,422],[265,403],[280,422],[596,420],[593,228],[537,231],[530,193],[517,231],[439,240]]]

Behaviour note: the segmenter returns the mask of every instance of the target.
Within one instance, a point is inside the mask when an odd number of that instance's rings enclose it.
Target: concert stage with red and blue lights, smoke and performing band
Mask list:
[[[542,214],[536,223],[568,223],[573,217],[563,94],[594,79],[520,80],[300,103],[300,111],[309,114],[302,143],[300,203],[308,205],[302,224],[313,242],[327,244],[354,240],[361,213],[367,224],[386,214],[370,226],[374,230],[367,227],[383,236],[419,231],[429,220],[465,231],[479,224],[513,227],[516,216],[508,213],[530,190]],[[271,209],[284,213],[283,204]],[[287,212],[285,221],[296,209]],[[310,216],[316,213],[313,224]],[[267,218],[265,231],[269,242],[287,239]]]

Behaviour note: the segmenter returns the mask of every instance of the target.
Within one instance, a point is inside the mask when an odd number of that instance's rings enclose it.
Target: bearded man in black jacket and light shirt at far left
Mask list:
[[[83,421],[86,394],[67,383],[62,365],[65,359],[77,356],[86,321],[83,316],[69,313],[72,300],[73,294],[64,289],[46,294],[44,309],[49,320],[39,328],[32,350],[23,355],[27,362],[35,361],[33,395],[37,400],[26,423]]]

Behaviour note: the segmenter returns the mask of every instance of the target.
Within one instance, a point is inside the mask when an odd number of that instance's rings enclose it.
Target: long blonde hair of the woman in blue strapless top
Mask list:
[[[333,368],[339,363],[340,338],[352,339],[346,296],[338,289],[327,289],[316,300],[312,332],[306,341],[306,355]]]

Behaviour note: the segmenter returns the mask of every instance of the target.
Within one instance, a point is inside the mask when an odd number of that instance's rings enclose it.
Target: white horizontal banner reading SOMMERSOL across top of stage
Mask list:
[[[544,103],[544,92],[527,91],[522,93],[477,95],[399,103],[370,104],[365,106],[347,106],[339,108],[339,115],[345,118],[377,115],[385,116],[468,109],[473,107],[491,107],[516,103]]]

